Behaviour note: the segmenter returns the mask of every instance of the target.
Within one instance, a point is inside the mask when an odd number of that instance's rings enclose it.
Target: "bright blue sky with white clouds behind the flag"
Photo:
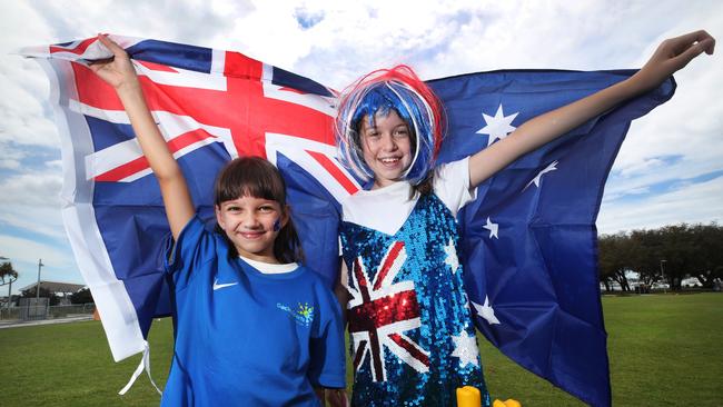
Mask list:
[[[42,280],[82,282],[60,215],[60,142],[48,78],[17,54],[22,47],[97,32],[152,38],[240,51],[341,89],[396,63],[424,79],[640,68],[665,38],[700,28],[723,38],[723,2],[3,1],[0,26],[0,256],[19,272],[16,294],[37,280],[39,259]],[[673,99],[633,122],[605,189],[601,234],[723,222],[717,51],[676,73]]]

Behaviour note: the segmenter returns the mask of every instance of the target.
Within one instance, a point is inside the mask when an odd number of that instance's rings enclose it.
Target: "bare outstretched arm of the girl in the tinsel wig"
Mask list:
[[[539,115],[469,158],[469,187],[474,188],[518,157],[554,140],[623,101],[651,90],[705,51],[715,40],[701,30],[663,41],[645,66],[628,79]]]

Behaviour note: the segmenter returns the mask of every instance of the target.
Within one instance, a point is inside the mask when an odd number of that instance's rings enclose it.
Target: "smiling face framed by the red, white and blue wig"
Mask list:
[[[374,172],[374,187],[386,187],[398,181],[412,163],[412,136],[407,123],[389,110],[385,117],[374,116],[374,126],[368,117],[361,119],[359,140],[364,161]]]

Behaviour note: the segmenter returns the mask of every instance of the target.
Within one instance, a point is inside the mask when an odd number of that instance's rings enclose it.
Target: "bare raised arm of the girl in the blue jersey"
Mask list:
[[[113,58],[108,61],[92,63],[90,69],[116,89],[120,101],[123,103],[143,156],[146,156],[160,185],[168,224],[174,239],[177,239],[182,228],[195,214],[186,178],[184,178],[178,162],[168,150],[166,140],[148,110],[140,82],[128,53],[106,36],[99,34],[98,39],[113,53]]]

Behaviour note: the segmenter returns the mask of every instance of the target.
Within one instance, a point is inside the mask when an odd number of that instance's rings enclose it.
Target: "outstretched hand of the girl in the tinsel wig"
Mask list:
[[[636,77],[644,89],[654,88],[701,53],[712,54],[714,48],[715,39],[705,30],[668,38],[661,42]]]

